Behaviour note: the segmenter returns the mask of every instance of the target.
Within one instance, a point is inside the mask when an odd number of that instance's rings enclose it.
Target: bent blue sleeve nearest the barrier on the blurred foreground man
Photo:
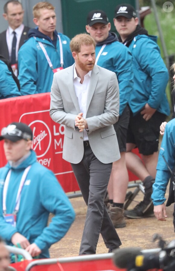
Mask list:
[[[51,171],[43,174],[39,193],[43,207],[54,214],[52,221],[34,241],[43,250],[65,236],[75,219],[75,212]]]

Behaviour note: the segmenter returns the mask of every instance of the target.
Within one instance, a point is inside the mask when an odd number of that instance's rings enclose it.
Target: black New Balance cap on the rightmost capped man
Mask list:
[[[119,16],[124,16],[128,19],[131,19],[132,17],[136,18],[137,14],[136,14],[136,11],[132,5],[120,4],[120,5],[116,6],[116,8],[115,8],[114,18],[117,18]]]

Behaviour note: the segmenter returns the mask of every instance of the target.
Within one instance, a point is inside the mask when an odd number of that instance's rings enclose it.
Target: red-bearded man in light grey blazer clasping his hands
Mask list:
[[[65,125],[63,159],[70,162],[88,205],[79,254],[95,254],[101,233],[108,252],[121,245],[104,205],[112,163],[120,158],[113,124],[119,117],[116,74],[95,65],[95,41],[88,34],[70,43],[75,64],[56,72],[50,116]]]

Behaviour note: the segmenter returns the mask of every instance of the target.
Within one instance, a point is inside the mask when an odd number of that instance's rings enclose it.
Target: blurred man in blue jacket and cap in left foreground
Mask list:
[[[22,122],[2,128],[8,163],[0,168],[0,233],[7,245],[21,246],[32,257],[49,257],[75,213],[56,177],[37,162],[33,133]],[[54,214],[49,225],[49,213]]]

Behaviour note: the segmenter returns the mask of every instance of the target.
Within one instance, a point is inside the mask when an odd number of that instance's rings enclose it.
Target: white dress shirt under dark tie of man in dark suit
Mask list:
[[[19,49],[19,42],[20,38],[22,35],[22,32],[24,30],[24,24],[22,23],[20,26],[18,26],[15,30],[13,30],[10,26],[8,26],[7,32],[6,32],[6,40],[7,40],[7,45],[8,45],[8,52],[9,52],[9,57],[11,59],[11,47],[12,47],[12,41],[13,41],[13,31],[16,33],[16,60],[18,59],[18,49]]]

